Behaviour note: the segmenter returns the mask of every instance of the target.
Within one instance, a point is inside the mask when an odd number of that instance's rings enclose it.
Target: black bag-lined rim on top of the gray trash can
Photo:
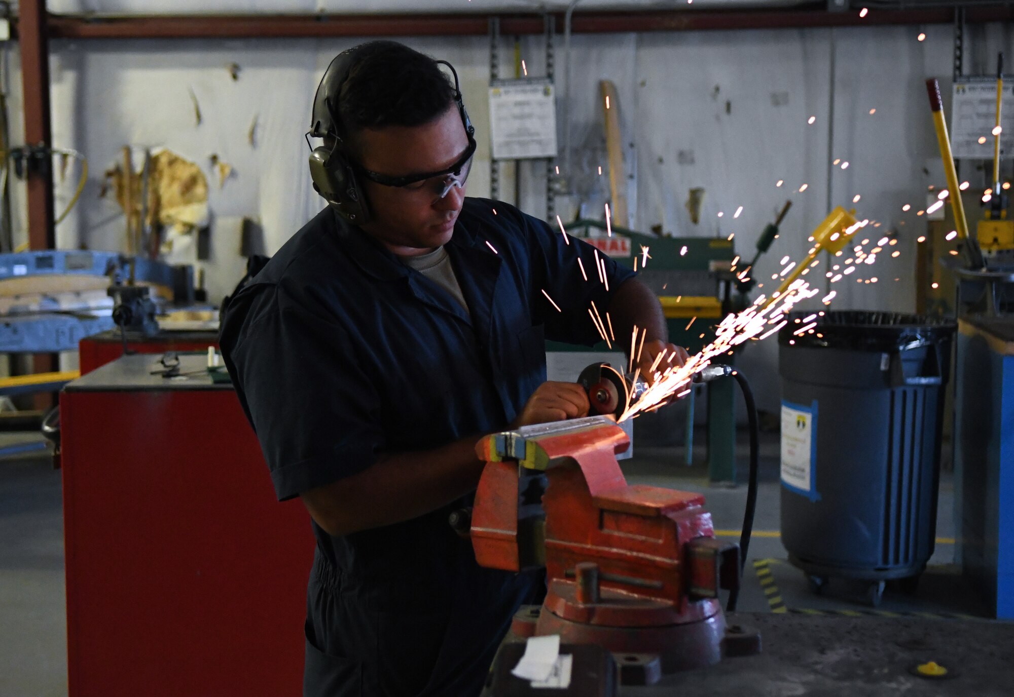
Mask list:
[[[778,334],[780,345],[894,351],[947,341],[954,320],[932,315],[876,310],[796,310]],[[808,328],[807,328],[808,327]]]

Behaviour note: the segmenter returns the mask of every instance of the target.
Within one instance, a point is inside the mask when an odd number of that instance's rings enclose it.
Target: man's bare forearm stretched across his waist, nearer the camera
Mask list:
[[[358,474],[304,492],[303,502],[316,524],[335,536],[418,518],[479,484],[481,438],[383,456]]]

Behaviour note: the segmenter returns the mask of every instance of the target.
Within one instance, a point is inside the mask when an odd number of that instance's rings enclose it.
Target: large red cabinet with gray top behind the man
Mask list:
[[[70,697],[298,697],[313,537],[235,392],[127,356],[60,401]],[[196,375],[187,375],[194,371]]]

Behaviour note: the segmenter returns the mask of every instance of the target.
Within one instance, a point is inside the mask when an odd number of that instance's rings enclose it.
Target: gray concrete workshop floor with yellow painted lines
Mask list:
[[[0,434],[0,446],[25,438]],[[745,486],[710,487],[703,466],[682,464],[683,452],[680,447],[637,448],[635,457],[625,461],[624,469],[631,483],[704,492],[716,529],[720,534],[738,537]],[[745,441],[738,452],[742,453],[740,469],[745,476]],[[695,461],[703,463],[704,459],[704,451],[696,448]],[[869,612],[868,607],[857,604],[856,591],[847,584],[832,584],[827,593],[814,596],[802,572],[786,561],[778,538],[777,434],[765,435],[763,439],[760,473],[749,560],[773,560],[768,568],[790,611]],[[945,478],[940,494],[939,538],[954,537],[951,490],[950,481]],[[49,458],[35,454],[0,460],[0,695],[3,697],[67,694],[62,523],[60,473],[52,469]],[[918,592],[911,597],[888,592],[880,610],[981,615],[973,596],[961,587],[959,576],[949,565],[952,557],[953,543],[938,543]],[[751,567],[752,564],[747,565],[739,610],[769,611],[768,596]]]

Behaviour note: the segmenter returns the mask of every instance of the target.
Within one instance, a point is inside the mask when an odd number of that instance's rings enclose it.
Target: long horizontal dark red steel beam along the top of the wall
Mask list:
[[[544,31],[538,15],[495,13],[457,14],[320,14],[320,15],[152,15],[84,16],[50,15],[51,38],[299,38],[321,36],[428,36],[482,35],[488,20],[500,16],[504,34]],[[883,24],[947,24],[952,8],[827,12],[786,8],[760,10],[657,10],[630,12],[578,12],[576,33],[617,31],[700,31],[711,29],[801,28],[809,26],[862,26]],[[1014,8],[969,7],[967,22],[1012,21]],[[563,15],[557,17],[563,26]]]

